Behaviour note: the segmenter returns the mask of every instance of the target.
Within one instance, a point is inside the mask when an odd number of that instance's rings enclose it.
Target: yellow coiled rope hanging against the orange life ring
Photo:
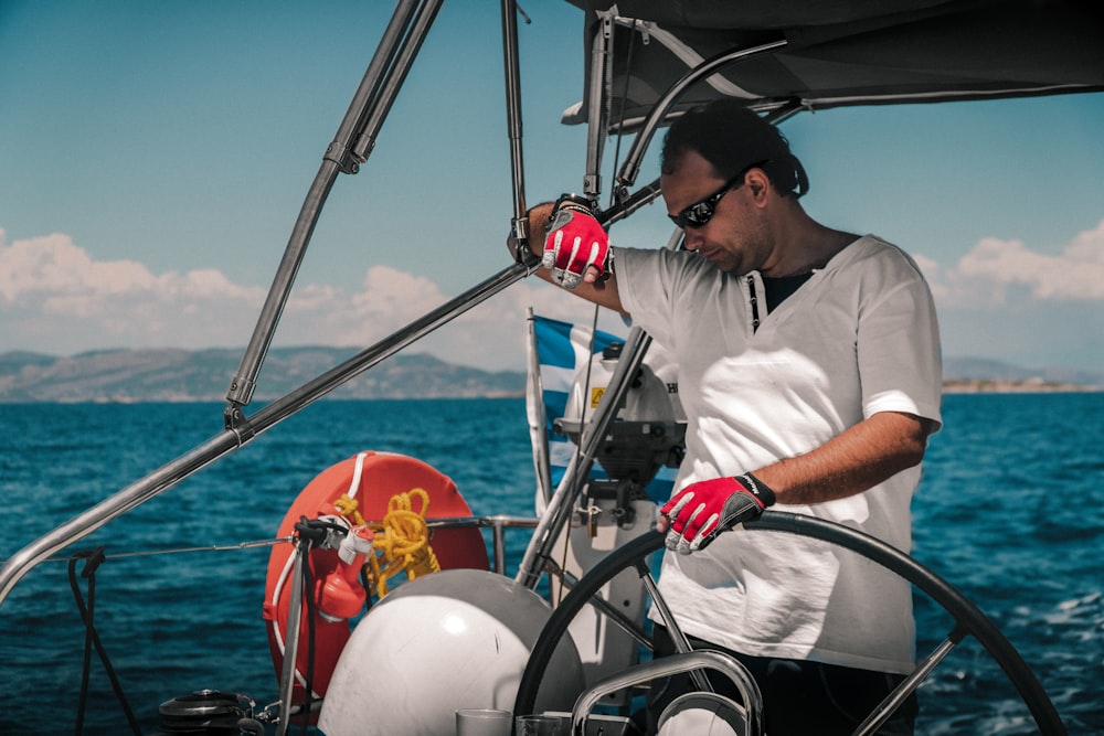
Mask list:
[[[414,498],[422,502],[418,511],[413,508]],[[400,573],[406,573],[406,577],[413,580],[440,569],[437,556],[429,546],[429,527],[425,523],[428,510],[429,494],[424,489],[415,488],[408,493],[391,497],[383,523],[372,525],[375,532],[372,547],[376,554],[369,555],[364,574],[369,587],[380,598],[388,595],[388,580]],[[352,511],[355,513],[355,508]]]

